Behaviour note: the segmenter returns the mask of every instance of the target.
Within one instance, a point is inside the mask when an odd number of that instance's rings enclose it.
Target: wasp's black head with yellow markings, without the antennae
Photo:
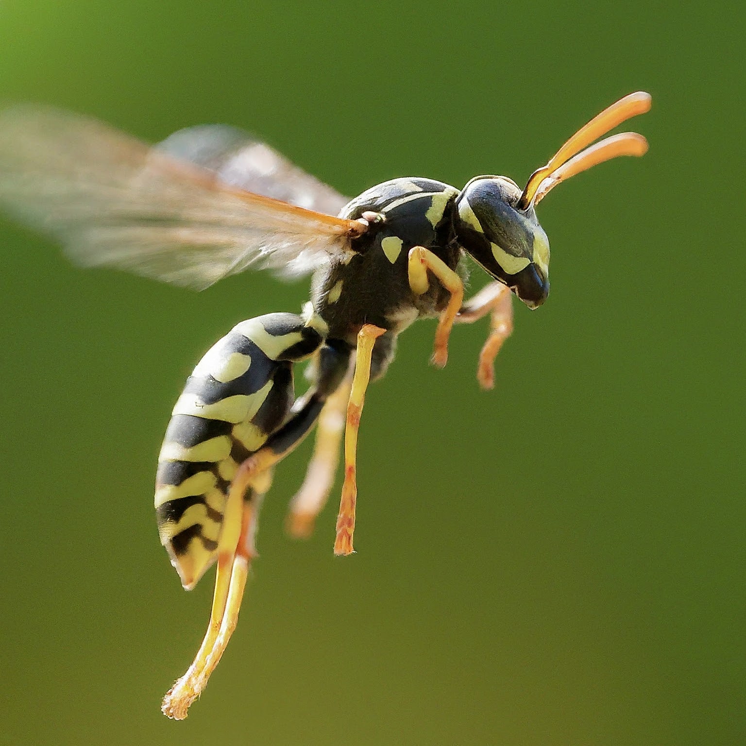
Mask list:
[[[457,200],[456,233],[465,251],[528,307],[549,293],[549,241],[533,207],[516,210],[521,189],[504,176],[477,176]]]

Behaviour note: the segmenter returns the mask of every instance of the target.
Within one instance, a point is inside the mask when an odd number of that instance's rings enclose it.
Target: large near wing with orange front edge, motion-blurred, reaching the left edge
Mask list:
[[[313,271],[365,231],[222,183],[106,125],[47,107],[0,113],[0,204],[85,266],[198,289],[227,275]]]

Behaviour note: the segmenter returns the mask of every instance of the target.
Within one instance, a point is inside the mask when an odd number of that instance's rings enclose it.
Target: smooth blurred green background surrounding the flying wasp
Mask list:
[[[151,141],[239,125],[350,195],[524,183],[606,104],[653,94],[644,159],[542,203],[552,295],[516,306],[494,392],[485,324],[444,371],[432,322],[401,339],[363,416],[354,557],[332,554],[338,488],[310,542],[283,536],[310,442],[283,463],[239,628],[181,724],[160,698],[212,575],[185,594],[160,548],[160,439],[202,352],[307,285],[81,271],[4,222],[0,743],[746,742],[744,27],[714,11],[0,5],[1,98]]]

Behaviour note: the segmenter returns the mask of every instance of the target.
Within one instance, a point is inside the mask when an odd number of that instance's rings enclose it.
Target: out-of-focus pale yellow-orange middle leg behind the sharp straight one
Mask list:
[[[296,539],[307,539],[321,513],[339,464],[339,444],[345,427],[345,406],[350,397],[351,376],[333,393],[324,405],[316,428],[316,444],[313,457],[306,471],[301,489],[290,501],[286,530]]]

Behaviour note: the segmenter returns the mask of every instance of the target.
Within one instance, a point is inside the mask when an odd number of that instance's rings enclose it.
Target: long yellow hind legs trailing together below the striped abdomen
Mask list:
[[[189,706],[207,686],[207,680],[236,627],[248,564],[256,555],[254,533],[259,505],[272,478],[269,473],[262,477],[264,478],[257,479],[257,492],[253,502],[243,500],[248,484],[236,484],[234,480],[231,485],[218,545],[218,568],[210,623],[192,665],[163,698],[160,709],[169,718],[186,718]]]

